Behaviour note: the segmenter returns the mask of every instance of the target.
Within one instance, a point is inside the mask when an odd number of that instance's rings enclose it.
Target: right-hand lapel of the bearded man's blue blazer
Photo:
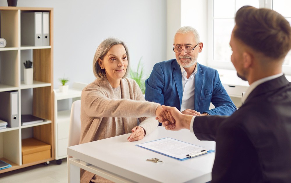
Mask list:
[[[199,105],[201,101],[202,87],[204,84],[204,74],[201,70],[200,65],[197,62],[197,74],[195,75],[195,94],[194,94],[194,110],[199,110]]]

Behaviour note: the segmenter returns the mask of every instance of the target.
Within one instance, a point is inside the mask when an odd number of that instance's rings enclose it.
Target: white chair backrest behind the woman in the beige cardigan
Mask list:
[[[71,108],[70,127],[69,127],[69,146],[79,144],[81,135],[81,101],[74,101]],[[68,156],[68,158],[70,158]]]

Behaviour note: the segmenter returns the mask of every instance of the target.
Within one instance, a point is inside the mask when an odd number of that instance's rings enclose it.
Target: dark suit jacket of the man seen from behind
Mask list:
[[[212,181],[291,182],[291,83],[258,85],[231,116],[197,116],[200,140],[216,141]]]

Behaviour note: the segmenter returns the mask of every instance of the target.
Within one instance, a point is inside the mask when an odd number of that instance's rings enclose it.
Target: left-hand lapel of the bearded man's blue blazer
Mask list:
[[[172,67],[173,67],[173,78],[174,78],[175,85],[178,91],[179,100],[180,100],[180,109],[181,109],[182,96],[183,96],[182,72],[177,60],[172,62]]]

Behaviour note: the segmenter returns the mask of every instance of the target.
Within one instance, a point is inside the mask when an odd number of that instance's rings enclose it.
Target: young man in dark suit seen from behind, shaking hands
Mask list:
[[[282,64],[291,27],[279,13],[244,6],[235,17],[230,46],[237,75],[249,81],[243,105],[231,116],[191,116],[175,107],[159,119],[167,130],[190,129],[216,141],[215,182],[291,182],[291,83]]]

